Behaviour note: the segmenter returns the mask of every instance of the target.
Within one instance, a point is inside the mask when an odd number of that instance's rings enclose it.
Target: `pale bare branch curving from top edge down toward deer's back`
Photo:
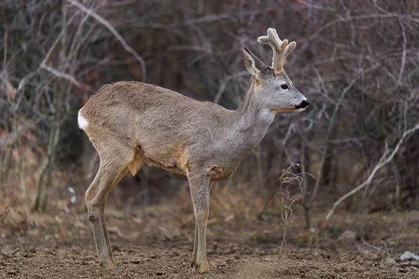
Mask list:
[[[78,1],[75,0],[66,0],[68,3],[71,3],[73,6],[76,6],[77,8],[79,8],[80,10],[82,10],[84,13],[87,13],[87,15],[91,15],[92,17],[94,17],[95,20],[97,20],[98,22],[100,22],[101,24],[103,24],[106,28],[109,29],[109,31],[112,32],[112,34],[117,38],[117,40],[119,40],[119,43],[122,44],[122,46],[124,47],[124,49],[133,54],[133,56],[135,57],[135,59],[138,60],[138,62],[140,62],[140,66],[141,66],[141,79],[142,82],[145,82],[145,77],[146,77],[146,68],[145,68],[145,61],[144,59],[142,59],[142,57],[140,56],[140,54],[138,54],[137,52],[135,52],[135,50],[133,50],[124,40],[124,38],[122,38],[121,35],[119,35],[117,29],[115,29],[115,27],[112,26],[112,24],[110,24],[110,22],[108,22],[107,20],[105,20],[103,17],[101,17],[100,15],[98,15],[97,13],[95,13],[93,10],[90,10],[89,8],[86,8],[85,6],[83,6],[81,3],[79,3]]]

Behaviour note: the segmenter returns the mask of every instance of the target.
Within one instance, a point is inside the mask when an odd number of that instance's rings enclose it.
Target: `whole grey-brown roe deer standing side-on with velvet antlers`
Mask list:
[[[82,107],[79,126],[101,160],[85,197],[99,261],[105,269],[116,268],[105,225],[105,201],[122,177],[128,171],[135,174],[144,161],[188,177],[196,218],[192,266],[199,273],[209,273],[206,229],[212,181],[235,172],[262,140],[277,112],[301,112],[309,105],[283,68],[295,42],[280,40],[275,29],[268,29],[258,42],[272,47],[272,67],[242,47],[252,78],[237,110],[140,82],[102,86]]]

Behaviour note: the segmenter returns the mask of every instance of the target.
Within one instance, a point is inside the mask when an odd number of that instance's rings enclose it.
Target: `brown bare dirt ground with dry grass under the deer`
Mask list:
[[[193,214],[171,209],[107,209],[119,270],[101,269],[87,216],[64,212],[31,216],[26,234],[6,228],[0,278],[419,278],[419,212],[336,213],[323,230],[304,232],[296,213],[288,228],[288,257],[280,257],[280,218],[210,218],[211,274],[191,269]],[[320,223],[321,218],[314,218]],[[381,262],[385,240],[395,265]]]

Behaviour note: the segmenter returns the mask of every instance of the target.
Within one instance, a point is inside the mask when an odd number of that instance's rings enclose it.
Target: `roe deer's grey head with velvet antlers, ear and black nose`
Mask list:
[[[247,47],[242,48],[244,65],[253,75],[254,94],[272,112],[302,112],[309,100],[298,91],[283,68],[286,56],[295,47],[295,42],[281,40],[275,29],[267,29],[267,36],[258,38],[259,43],[270,45],[274,52],[272,66],[267,66]]]

